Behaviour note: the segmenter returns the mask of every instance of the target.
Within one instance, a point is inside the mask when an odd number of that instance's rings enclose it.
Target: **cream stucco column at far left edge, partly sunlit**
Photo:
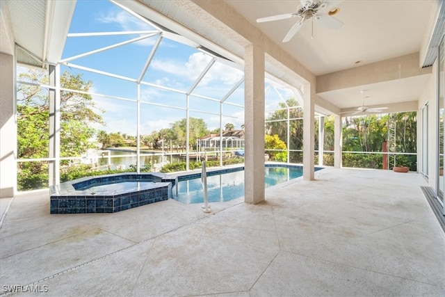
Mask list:
[[[0,53],[0,198],[17,189],[14,56]]]

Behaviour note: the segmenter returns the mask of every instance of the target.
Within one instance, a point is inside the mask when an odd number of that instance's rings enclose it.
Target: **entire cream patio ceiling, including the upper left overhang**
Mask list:
[[[150,17],[211,51],[242,63],[243,50],[248,40],[209,14],[198,20],[196,15],[202,15],[203,12],[200,8],[202,1],[115,2],[144,17]],[[443,7],[440,9],[442,1],[436,0],[343,1],[337,5],[339,13],[335,15],[344,24],[341,29],[332,30],[315,22],[312,33],[309,20],[289,42],[283,43],[282,38],[296,22],[295,18],[267,23],[257,23],[255,20],[270,15],[295,13],[300,1],[254,1],[254,5],[252,2],[227,0],[219,5],[228,6],[234,14],[239,14],[237,17],[241,15],[247,19],[255,29],[266,34],[315,74],[317,80],[330,74],[414,53],[419,53],[419,67],[431,65],[431,53],[428,52],[427,45],[434,36],[430,32],[443,23],[444,11]],[[33,5],[29,5],[30,3]],[[19,62],[31,65],[57,63],[70,26],[75,1],[7,0],[2,1],[1,6],[2,22],[6,19],[3,15],[9,15],[10,23],[1,26],[0,37],[1,40],[15,38],[15,42],[20,46],[17,51]],[[7,10],[4,9],[5,6]],[[437,11],[442,14],[438,15]],[[32,32],[29,30],[30,24],[33,26]],[[33,38],[29,38],[31,33]],[[1,42],[1,45],[6,44],[7,42]],[[4,49],[2,46],[1,51],[9,52],[10,49]],[[282,65],[268,63],[267,58],[266,71],[291,86],[298,88],[301,85],[297,76]],[[317,90],[317,95],[333,104],[336,110],[316,111],[338,113],[360,106],[362,95],[359,91],[364,89],[369,96],[365,102],[368,106],[393,104],[394,109],[408,106],[405,109],[416,110],[415,104],[398,103],[415,102],[430,72],[429,69],[421,75],[401,76],[400,79],[362,83],[335,90]]]

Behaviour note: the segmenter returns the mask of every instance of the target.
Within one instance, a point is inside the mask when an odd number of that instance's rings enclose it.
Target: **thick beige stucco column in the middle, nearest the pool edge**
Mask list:
[[[264,49],[248,45],[244,54],[244,201],[264,200]]]

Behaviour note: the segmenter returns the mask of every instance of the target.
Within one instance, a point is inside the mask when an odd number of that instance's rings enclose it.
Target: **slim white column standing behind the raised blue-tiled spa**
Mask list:
[[[60,184],[60,66],[49,65],[49,186]]]

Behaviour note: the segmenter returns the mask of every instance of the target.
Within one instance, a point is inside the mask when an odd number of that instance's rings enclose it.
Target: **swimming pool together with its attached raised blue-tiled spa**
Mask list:
[[[321,168],[315,168],[320,170]],[[302,167],[266,164],[266,188],[302,175]],[[207,172],[209,202],[225,202],[244,195],[244,167],[211,169]],[[51,214],[114,213],[174,198],[184,204],[202,203],[201,173],[166,175],[116,173],[82,177],[49,187]]]

